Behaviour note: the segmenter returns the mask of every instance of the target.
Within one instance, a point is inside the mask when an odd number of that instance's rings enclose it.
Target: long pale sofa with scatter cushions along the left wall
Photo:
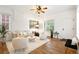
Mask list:
[[[16,38],[16,37],[26,37],[27,36],[27,32],[23,31],[23,32],[19,32],[19,31],[15,31],[15,32],[10,32],[8,31],[6,34],[5,34],[5,39],[6,41],[12,41],[13,38]]]

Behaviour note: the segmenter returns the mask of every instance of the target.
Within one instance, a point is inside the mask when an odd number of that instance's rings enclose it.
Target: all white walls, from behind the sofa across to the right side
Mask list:
[[[61,12],[52,13],[52,10],[48,10],[45,14],[38,17],[33,11],[30,11],[32,6],[16,6],[14,7],[14,20],[12,22],[12,31],[24,31],[29,30],[29,20],[39,20],[40,30],[44,31],[44,21],[53,19],[55,22],[55,31],[58,31],[59,38],[72,38],[76,33],[76,9],[63,10]],[[55,11],[55,9],[54,9]],[[64,31],[62,30],[64,28]]]

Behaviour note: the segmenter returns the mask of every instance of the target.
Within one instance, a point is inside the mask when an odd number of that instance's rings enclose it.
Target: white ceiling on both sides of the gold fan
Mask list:
[[[11,9],[25,9],[30,10],[34,5],[0,5],[0,7],[7,7]],[[46,5],[49,13],[58,13],[64,10],[76,9],[75,5]]]

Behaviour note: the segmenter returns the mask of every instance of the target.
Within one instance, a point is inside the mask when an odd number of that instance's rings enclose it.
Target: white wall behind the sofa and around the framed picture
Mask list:
[[[34,14],[30,10],[30,6],[24,8],[24,6],[17,6],[14,7],[14,19],[13,20],[13,26],[12,26],[12,31],[27,31],[29,30],[29,20],[38,20],[40,23],[40,31],[44,30],[44,21],[43,16],[37,17],[36,14]],[[30,29],[31,30],[31,29]]]

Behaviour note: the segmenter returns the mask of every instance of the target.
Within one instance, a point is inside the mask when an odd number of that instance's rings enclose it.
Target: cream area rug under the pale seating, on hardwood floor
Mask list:
[[[36,48],[42,46],[43,44],[47,43],[49,41],[49,39],[45,39],[45,40],[35,40],[34,42],[29,42],[27,41],[27,47],[25,51],[16,51],[14,52],[14,48],[12,46],[12,42],[6,42],[8,51],[10,54],[29,54],[30,52],[32,52],[33,50],[35,50]]]

